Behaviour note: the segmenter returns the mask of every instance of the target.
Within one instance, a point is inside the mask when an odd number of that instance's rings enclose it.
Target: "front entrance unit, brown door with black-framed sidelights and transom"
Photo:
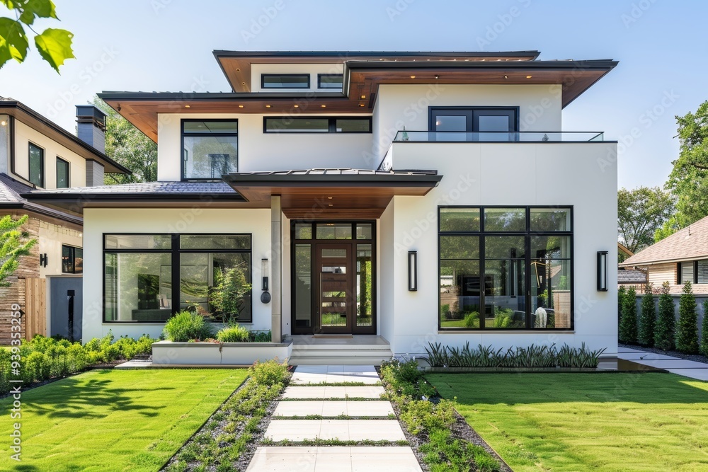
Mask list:
[[[292,333],[376,333],[374,221],[292,222]]]

